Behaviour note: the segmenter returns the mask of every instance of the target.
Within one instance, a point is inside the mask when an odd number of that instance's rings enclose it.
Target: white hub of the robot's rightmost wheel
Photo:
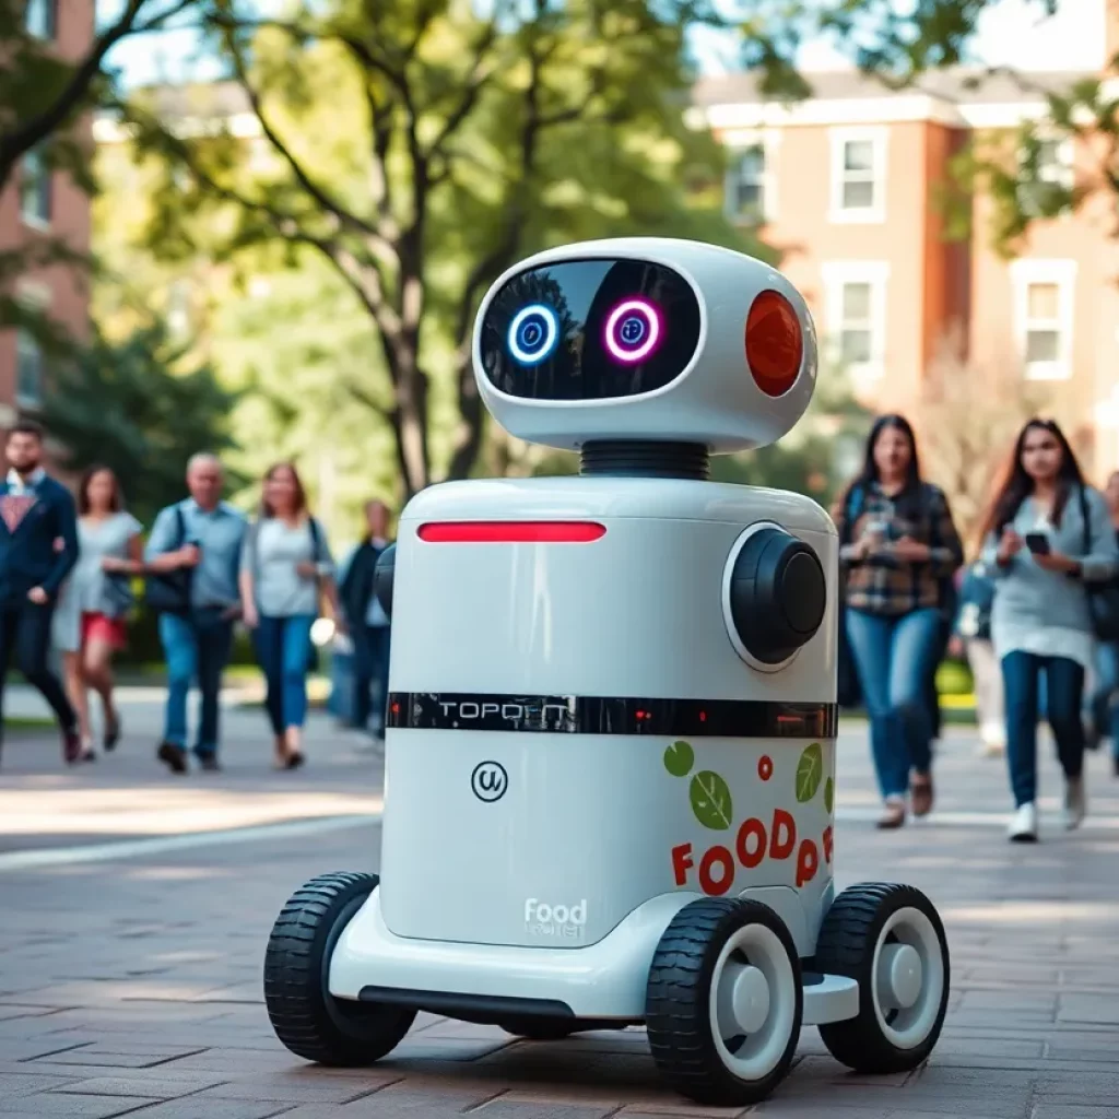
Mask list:
[[[871,970],[874,1013],[897,1049],[915,1049],[932,1033],[944,995],[940,938],[918,909],[891,913],[878,933]]]

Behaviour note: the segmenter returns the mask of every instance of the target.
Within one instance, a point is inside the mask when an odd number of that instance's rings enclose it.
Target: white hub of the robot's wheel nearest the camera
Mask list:
[[[796,976],[781,938],[763,924],[735,930],[711,979],[712,1036],[728,1071],[755,1081],[780,1064],[796,1000]]]

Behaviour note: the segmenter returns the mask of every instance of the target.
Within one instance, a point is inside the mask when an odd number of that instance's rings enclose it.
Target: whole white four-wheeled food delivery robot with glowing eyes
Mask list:
[[[417,1012],[525,1038],[643,1025],[668,1083],[763,1099],[801,1027],[919,1065],[949,955],[905,885],[833,887],[837,540],[708,480],[816,379],[770,265],[633,238],[549,250],[478,312],[490,414],[577,477],[448,482],[378,570],[393,624],[380,876],[309,882],[264,969],[280,1040],[388,1054]]]

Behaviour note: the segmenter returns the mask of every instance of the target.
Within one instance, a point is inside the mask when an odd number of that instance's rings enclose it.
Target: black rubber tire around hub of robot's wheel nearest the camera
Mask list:
[[[711,980],[732,933],[763,924],[784,946],[792,963],[796,1013],[789,1044],[763,1080],[734,1075],[718,1055],[711,1028]],[[652,1059],[665,1080],[697,1103],[745,1107],[764,1100],[784,1079],[797,1052],[805,1014],[800,957],[784,922],[768,905],[745,897],[704,897],[669,922],[649,968],[646,1026]]]

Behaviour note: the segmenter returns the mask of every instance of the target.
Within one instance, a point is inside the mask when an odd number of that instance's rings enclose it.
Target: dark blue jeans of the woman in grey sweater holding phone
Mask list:
[[[1068,657],[1008,652],[1003,658],[1006,693],[1006,759],[1017,807],[1037,799],[1037,692],[1045,676],[1046,717],[1065,777],[1084,768],[1084,667]]]

